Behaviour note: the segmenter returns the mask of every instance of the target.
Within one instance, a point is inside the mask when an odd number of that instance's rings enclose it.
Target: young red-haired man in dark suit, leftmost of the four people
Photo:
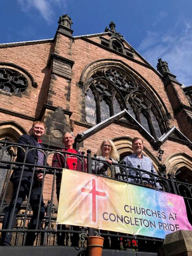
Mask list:
[[[45,128],[46,126],[43,122],[40,122],[40,121],[34,122],[32,125],[32,128],[29,131],[30,135],[27,135],[27,134],[22,135],[19,138],[18,143],[42,148],[43,146],[41,144],[42,142],[41,136],[43,136],[45,132]],[[27,146],[23,146],[24,150],[26,150],[26,147]],[[10,181],[13,183],[13,186],[14,186],[13,196],[12,196],[9,208],[5,212],[2,229],[14,228],[16,215],[19,212],[21,204],[25,200],[26,196],[28,197],[31,208],[33,210],[33,215],[28,225],[28,229],[36,229],[37,222],[38,222],[38,228],[40,228],[41,221],[45,214],[43,197],[40,205],[43,173],[35,172],[33,177],[33,166],[31,166],[31,170],[28,170],[28,171],[23,170],[23,175],[21,176],[23,164],[24,165],[26,164],[26,166],[28,166],[27,164],[32,164],[32,165],[36,164],[39,166],[43,166],[45,157],[43,152],[40,150],[32,149],[27,153],[27,155],[24,150],[21,147],[17,148],[17,162],[20,162],[21,166],[20,166],[20,169],[14,170],[10,178]],[[20,186],[19,186],[19,183],[20,183]],[[31,188],[31,194],[29,196],[31,184],[32,184],[32,188]],[[38,218],[39,207],[40,207],[40,214]],[[2,245],[11,245],[11,236],[12,236],[11,233],[2,232],[2,240],[1,240]],[[35,238],[36,238],[35,232],[27,232],[25,245],[33,245]]]

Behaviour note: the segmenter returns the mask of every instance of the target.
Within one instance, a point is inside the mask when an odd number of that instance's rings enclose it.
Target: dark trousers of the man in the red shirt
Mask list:
[[[61,188],[61,176],[56,177],[56,193],[57,193],[57,201],[59,203],[59,194],[60,194],[60,188]],[[65,225],[58,225],[57,227],[57,245],[65,245],[65,232],[59,232],[59,230],[66,229]],[[78,226],[73,226],[73,230],[79,231],[80,228]],[[71,236],[71,246],[79,246],[79,234],[73,233]]]

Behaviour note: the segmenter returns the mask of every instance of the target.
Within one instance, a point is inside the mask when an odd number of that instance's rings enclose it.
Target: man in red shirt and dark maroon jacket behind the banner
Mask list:
[[[55,153],[52,160],[53,167],[59,168],[66,168],[75,171],[86,172],[87,165],[85,159],[73,155],[67,154],[67,152],[82,155],[79,150],[73,149],[74,143],[74,136],[70,132],[65,132],[63,136],[63,144],[65,148],[63,148],[63,155],[60,153]],[[61,187],[61,174],[56,174],[56,193],[57,193],[57,200],[59,202],[59,194],[60,194],[60,187]],[[69,191],[70,193],[70,191]],[[59,227],[58,227],[59,229]],[[62,229],[65,229],[65,225],[62,225]],[[79,230],[79,227],[73,227],[74,230]],[[65,233],[64,232],[57,232],[57,244],[64,245]],[[78,233],[73,233],[71,237],[71,245],[78,246]]]

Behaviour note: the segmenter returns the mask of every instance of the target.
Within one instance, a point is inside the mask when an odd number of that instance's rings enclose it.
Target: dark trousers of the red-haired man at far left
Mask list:
[[[41,221],[45,215],[45,208],[44,208],[43,197],[42,197],[41,206],[40,206],[40,215],[39,215],[39,219],[37,219],[38,211],[39,211],[40,195],[41,195],[41,183],[37,180],[33,180],[32,182],[33,183],[32,183],[31,195],[30,195],[30,198],[28,198],[28,200],[33,210],[33,215],[28,225],[28,229],[35,229],[37,221],[38,221],[38,228],[40,228]],[[17,189],[19,185],[19,179],[14,179],[13,185],[14,185],[13,196],[12,196],[9,208],[5,212],[2,229],[14,228],[16,215],[19,212],[21,208],[21,204],[25,200],[25,197],[26,196],[28,197],[29,195],[31,177],[22,178],[17,199],[16,199],[16,194],[17,194]],[[15,200],[16,200],[16,207],[13,212]],[[10,224],[12,214],[13,214],[13,218]],[[11,245],[11,236],[12,236],[11,232],[10,233],[2,232],[2,240],[1,240],[2,245]],[[25,245],[33,245],[35,238],[36,238],[35,232],[27,232]]]

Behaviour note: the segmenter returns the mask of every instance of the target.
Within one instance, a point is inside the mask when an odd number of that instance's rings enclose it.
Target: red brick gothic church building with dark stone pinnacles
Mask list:
[[[73,131],[76,148],[94,154],[108,138],[122,160],[142,137],[159,175],[192,183],[192,86],[183,88],[162,59],[152,67],[113,22],[79,36],[68,15],[58,23],[53,39],[0,44],[0,140],[16,142],[41,120],[49,148]],[[45,201],[50,184],[46,175]]]

